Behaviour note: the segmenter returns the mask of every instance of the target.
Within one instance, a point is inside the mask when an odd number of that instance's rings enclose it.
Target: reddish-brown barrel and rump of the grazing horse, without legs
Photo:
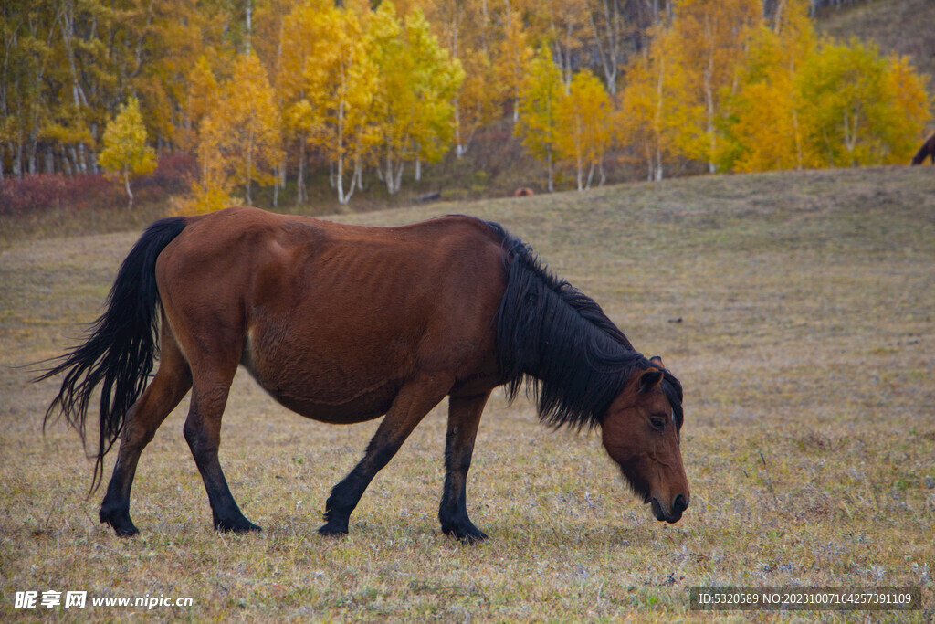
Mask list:
[[[413,375],[496,374],[504,279],[496,234],[457,216],[383,228],[228,209],[194,218],[157,265],[186,354],[236,359],[335,422],[382,414]]]

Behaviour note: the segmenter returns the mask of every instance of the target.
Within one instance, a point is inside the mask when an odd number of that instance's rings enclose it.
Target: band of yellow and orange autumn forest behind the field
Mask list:
[[[881,10],[903,28],[933,12],[924,0],[10,0],[0,214],[135,197],[177,213],[323,213],[352,197],[366,209],[907,163],[931,131],[935,43],[897,28],[884,53],[839,17]]]

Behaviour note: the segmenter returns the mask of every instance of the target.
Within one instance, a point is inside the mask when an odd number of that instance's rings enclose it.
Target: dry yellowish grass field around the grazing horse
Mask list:
[[[137,239],[36,237],[0,252],[0,619],[722,620],[935,618],[935,167],[632,184],[587,193],[343,215],[500,221],[595,297],[685,388],[691,506],[654,520],[596,434],[492,399],[468,508],[491,540],[439,530],[444,404],[367,490],[346,539],[324,501],[376,423],[305,420],[239,374],[221,460],[261,534],[211,530],[181,435],[187,403],[140,461],[122,540],[97,522],[92,462],[42,414],[55,356],[100,312]],[[6,224],[0,224],[7,227]],[[681,319],[681,320],[680,320]],[[113,457],[108,456],[107,466]],[[109,477],[109,472],[107,474]],[[922,588],[920,611],[689,610],[689,588]],[[16,592],[87,591],[82,611]],[[93,606],[94,597],[191,606]]]

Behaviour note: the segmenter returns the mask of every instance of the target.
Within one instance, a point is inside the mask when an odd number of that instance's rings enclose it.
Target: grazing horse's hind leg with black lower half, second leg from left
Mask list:
[[[199,379],[197,373],[195,375],[192,406],[183,432],[208,491],[214,528],[237,533],[260,530],[240,512],[230,487],[227,486],[221,462],[218,461],[221,417],[234,373],[231,372],[228,376],[214,375],[209,379]]]

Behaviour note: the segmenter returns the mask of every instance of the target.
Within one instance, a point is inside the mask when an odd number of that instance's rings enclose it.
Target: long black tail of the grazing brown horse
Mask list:
[[[46,411],[50,418],[65,416],[85,443],[85,419],[94,388],[101,386],[97,457],[89,495],[104,476],[104,456],[123,429],[124,416],[139,399],[152,370],[158,344],[159,291],[156,258],[185,228],[182,217],[150,225],[123,260],[108,295],[107,312],[90,327],[87,341],[52,363],[35,381],[65,373],[62,387]]]

